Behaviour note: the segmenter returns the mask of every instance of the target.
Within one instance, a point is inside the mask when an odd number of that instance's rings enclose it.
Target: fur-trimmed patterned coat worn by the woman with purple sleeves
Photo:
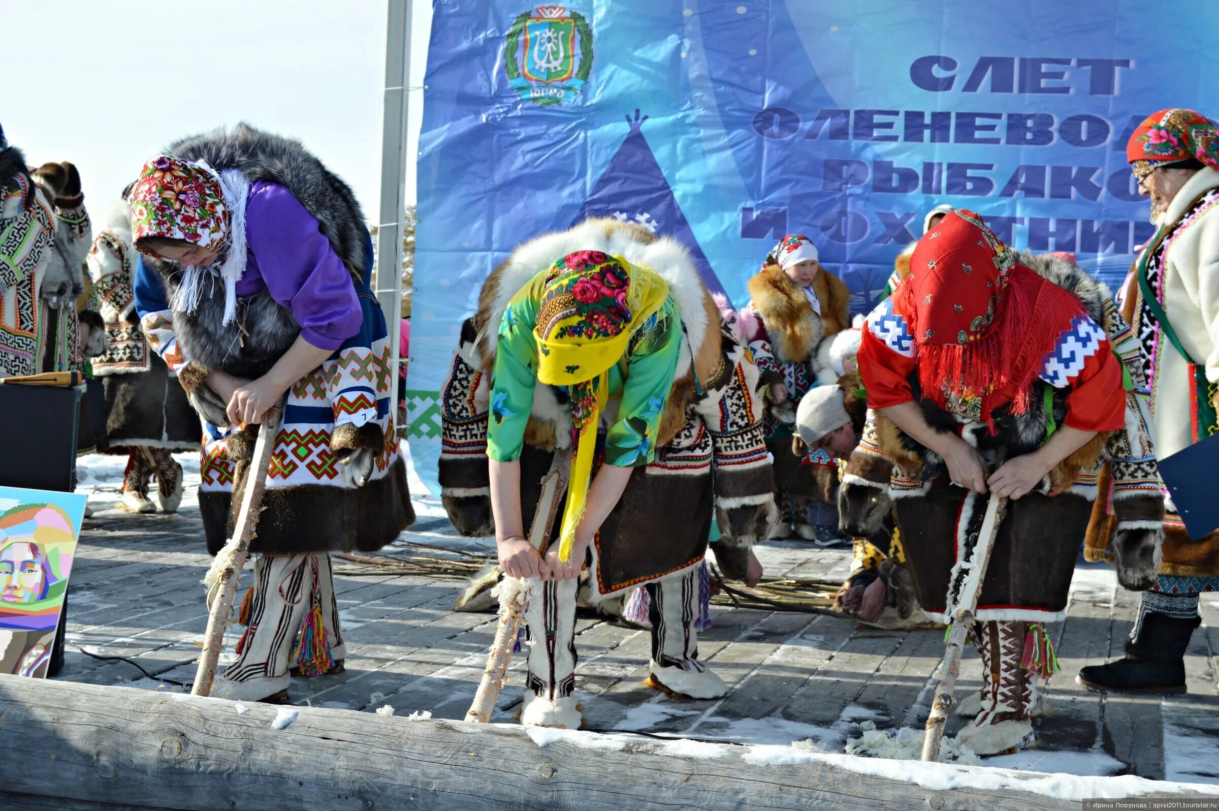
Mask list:
[[[252,551],[380,549],[414,521],[414,512],[389,416],[385,318],[368,287],[372,239],[351,189],[297,141],[245,124],[180,140],[166,152],[205,160],[218,172],[239,170],[247,183],[285,187],[317,220],[361,307],[360,332],[286,393]],[[227,202],[245,205],[244,199]],[[234,431],[227,424],[224,402],[208,389],[206,374],[223,370],[261,377],[295,341],[300,326],[262,289],[241,301],[244,332],[238,340],[238,326],[223,323],[223,295],[215,294],[219,285],[187,313],[168,304],[182,279],[180,266],[144,256],[138,266],[137,307],[149,343],[178,373],[205,421],[199,506],[215,552],[229,534],[235,517],[230,507],[246,485],[257,427]]]

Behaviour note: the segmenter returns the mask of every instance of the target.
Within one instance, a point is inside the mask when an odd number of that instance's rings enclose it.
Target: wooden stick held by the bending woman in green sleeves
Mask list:
[[[567,478],[570,474],[570,450],[556,450],[551,460],[550,471],[541,481],[541,496],[538,499],[538,511],[534,512],[533,524],[529,528],[529,543],[539,554],[546,552],[550,543],[551,528],[555,526],[555,515],[558,512],[560,498],[567,490]],[[531,577],[522,581],[516,577],[505,576],[492,594],[500,598],[500,623],[495,628],[495,639],[486,657],[486,670],[474,691],[474,701],[466,712],[466,721],[486,723],[495,711],[495,700],[500,696],[500,688],[503,687],[503,674],[508,670],[512,660],[512,649],[517,643],[517,634],[521,632],[521,622],[524,618],[525,605],[534,585],[541,581]]]

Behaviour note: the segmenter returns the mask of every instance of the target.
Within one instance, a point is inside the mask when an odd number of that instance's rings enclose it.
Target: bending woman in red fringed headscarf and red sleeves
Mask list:
[[[1053,661],[1039,623],[1065,616],[1107,432],[1125,424],[1123,373],[1080,300],[1017,263],[974,212],[934,226],[911,267],[868,316],[859,377],[903,471],[890,491],[929,616],[956,613],[979,494],[1012,499],[970,629],[990,678],[958,737],[997,754],[1032,735],[1032,676]]]

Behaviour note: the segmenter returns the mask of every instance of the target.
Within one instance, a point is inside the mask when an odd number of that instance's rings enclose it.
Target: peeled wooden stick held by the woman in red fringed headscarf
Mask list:
[[[926,717],[926,734],[923,738],[923,760],[925,761],[939,762],[940,760],[944,724],[947,723],[948,715],[952,712],[952,693],[957,688],[957,676],[961,672],[961,652],[965,645],[965,635],[974,623],[978,595],[981,593],[983,577],[986,576],[986,567],[990,565],[991,550],[995,548],[995,537],[998,534],[998,522],[1006,504],[1004,496],[991,493],[990,502],[986,505],[986,516],[983,518],[983,527],[978,533],[978,543],[974,544],[969,560],[963,566],[967,570],[965,579],[961,595],[956,600],[956,616],[952,621],[952,628],[948,631],[948,643],[939,667],[940,683],[935,688],[931,713]],[[948,596],[951,599],[952,595]],[[950,602],[948,609],[952,607]]]

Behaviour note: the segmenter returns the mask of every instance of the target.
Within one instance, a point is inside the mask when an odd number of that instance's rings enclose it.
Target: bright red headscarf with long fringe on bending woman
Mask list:
[[[952,411],[974,401],[993,429],[995,407],[1028,411],[1042,359],[1084,307],[1018,265],[980,216],[957,209],[914,246],[894,310],[914,335],[923,396]]]

